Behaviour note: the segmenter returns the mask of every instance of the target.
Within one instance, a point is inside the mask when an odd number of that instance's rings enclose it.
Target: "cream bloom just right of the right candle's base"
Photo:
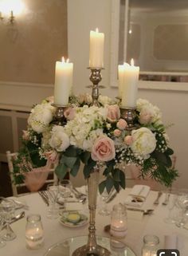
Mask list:
[[[136,104],[139,110],[140,124],[162,124],[162,114],[157,106],[143,99],[137,100]]]

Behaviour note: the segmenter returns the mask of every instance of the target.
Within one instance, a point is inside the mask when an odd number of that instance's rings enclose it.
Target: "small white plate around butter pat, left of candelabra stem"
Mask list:
[[[78,223],[69,222],[67,217],[69,214],[72,214],[72,213],[78,213],[80,215],[80,221]],[[63,226],[68,226],[68,227],[84,226],[88,223],[88,217],[86,215],[80,214],[78,211],[64,211],[61,213],[60,223]]]

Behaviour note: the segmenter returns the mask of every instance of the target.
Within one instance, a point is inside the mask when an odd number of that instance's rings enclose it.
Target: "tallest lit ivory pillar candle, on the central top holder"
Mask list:
[[[104,67],[104,33],[99,33],[98,29],[90,31],[89,67]]]

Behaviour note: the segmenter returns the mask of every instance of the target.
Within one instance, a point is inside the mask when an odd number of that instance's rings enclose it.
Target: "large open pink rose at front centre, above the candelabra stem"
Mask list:
[[[116,150],[113,140],[106,136],[99,137],[92,146],[92,160],[110,161],[116,156]]]

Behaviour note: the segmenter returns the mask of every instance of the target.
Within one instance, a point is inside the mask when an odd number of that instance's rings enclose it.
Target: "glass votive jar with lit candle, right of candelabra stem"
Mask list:
[[[124,238],[127,234],[127,210],[122,203],[112,209],[110,234],[115,238]]]

